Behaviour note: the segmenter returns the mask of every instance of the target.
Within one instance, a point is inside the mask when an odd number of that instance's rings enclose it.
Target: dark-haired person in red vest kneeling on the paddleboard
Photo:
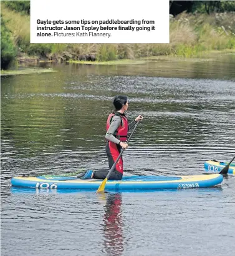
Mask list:
[[[125,143],[127,141],[127,132],[131,130],[135,123],[143,120],[143,116],[139,115],[135,120],[128,123],[127,117],[124,112],[128,109],[128,100],[127,96],[118,95],[115,96],[113,100],[113,105],[115,106],[115,110],[112,111],[110,115],[108,115],[107,119],[107,133],[105,138],[107,140],[105,151],[108,156],[108,166],[111,169],[115,161],[117,160],[120,151],[122,148],[128,148],[128,144]],[[107,171],[92,171],[87,170],[87,172],[82,175],[78,175],[78,178],[82,180],[95,178],[95,179],[105,179],[108,175],[109,170]],[[117,161],[115,169],[109,177],[109,180],[122,180],[123,176],[123,160],[122,156]]]

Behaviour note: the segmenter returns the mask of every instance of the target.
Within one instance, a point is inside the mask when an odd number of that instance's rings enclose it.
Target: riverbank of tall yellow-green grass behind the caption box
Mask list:
[[[170,16],[169,44],[31,44],[30,16],[1,3],[2,18],[12,31],[17,60],[22,55],[39,61],[103,64],[106,61],[137,61],[151,56],[199,57],[205,52],[235,49],[235,14],[179,14]],[[130,61],[129,63],[132,64]],[[116,63],[118,64],[118,62]]]

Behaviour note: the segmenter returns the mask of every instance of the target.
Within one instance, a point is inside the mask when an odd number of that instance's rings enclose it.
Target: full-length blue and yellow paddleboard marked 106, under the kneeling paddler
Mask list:
[[[14,187],[34,189],[79,189],[97,190],[103,180],[81,180],[77,177],[14,177],[11,184]],[[223,182],[223,175],[193,175],[193,176],[129,176],[122,180],[108,180],[105,191],[158,190],[214,187]]]

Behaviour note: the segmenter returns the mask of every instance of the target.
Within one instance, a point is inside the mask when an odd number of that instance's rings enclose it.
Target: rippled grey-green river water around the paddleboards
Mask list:
[[[144,116],[125,175],[199,175],[235,154],[235,55],[138,65],[42,64],[1,78],[1,255],[234,255],[233,175],[221,187],[105,193],[19,190],[17,175],[108,168],[105,122],[128,95]]]

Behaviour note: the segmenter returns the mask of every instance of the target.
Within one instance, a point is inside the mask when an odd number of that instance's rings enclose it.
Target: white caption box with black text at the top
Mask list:
[[[169,43],[169,1],[31,0],[31,43]]]

